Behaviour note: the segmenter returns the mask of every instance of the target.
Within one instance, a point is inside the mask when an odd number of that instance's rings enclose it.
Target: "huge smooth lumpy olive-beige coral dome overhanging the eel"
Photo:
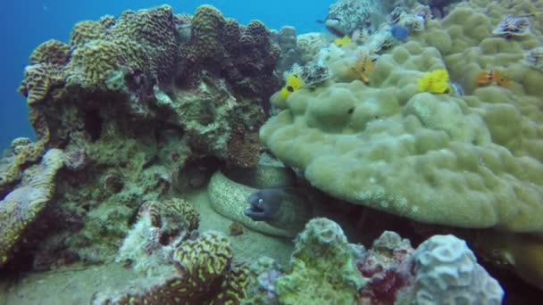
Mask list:
[[[330,83],[290,95],[261,128],[263,143],[355,204],[428,223],[543,232],[543,73],[522,61],[538,41],[492,37],[493,22],[458,5],[380,56],[371,87]],[[511,86],[477,87],[487,65],[507,65]],[[439,69],[466,95],[419,93],[416,78]]]

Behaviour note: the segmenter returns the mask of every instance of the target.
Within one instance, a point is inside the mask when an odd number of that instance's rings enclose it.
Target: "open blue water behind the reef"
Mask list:
[[[0,10],[0,152],[18,136],[33,137],[26,100],[17,92],[29,55],[48,39],[68,42],[71,27],[78,21],[96,20],[105,14],[118,16],[126,9],[138,10],[169,4],[174,12],[193,13],[201,4],[212,4],[227,17],[246,24],[263,21],[268,28],[291,25],[298,33],[322,30],[315,22],[323,19],[331,0],[5,0]]]

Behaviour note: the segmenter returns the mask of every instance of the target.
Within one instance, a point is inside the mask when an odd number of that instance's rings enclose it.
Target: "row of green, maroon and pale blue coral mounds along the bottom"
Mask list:
[[[251,276],[251,304],[500,304],[504,298],[497,280],[454,235],[434,235],[414,250],[385,231],[366,251],[348,243],[328,218],[306,224],[288,271],[263,258]]]

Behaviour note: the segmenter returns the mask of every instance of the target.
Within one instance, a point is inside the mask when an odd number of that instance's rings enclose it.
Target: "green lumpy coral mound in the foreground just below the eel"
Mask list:
[[[275,282],[280,303],[352,303],[363,280],[341,227],[313,218],[295,243],[291,272]]]

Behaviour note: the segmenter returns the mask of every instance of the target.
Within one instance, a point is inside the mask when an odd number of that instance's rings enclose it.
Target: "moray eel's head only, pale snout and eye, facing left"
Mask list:
[[[247,198],[247,202],[251,205],[243,213],[255,220],[275,220],[283,197],[283,191],[280,189],[263,189]]]

